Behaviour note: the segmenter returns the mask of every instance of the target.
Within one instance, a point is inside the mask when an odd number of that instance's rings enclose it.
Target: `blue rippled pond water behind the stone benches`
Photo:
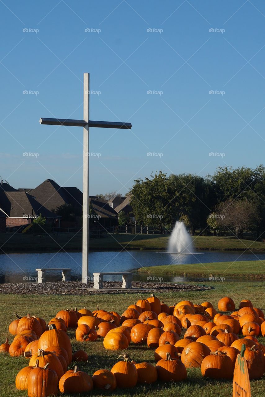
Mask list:
[[[93,272],[118,272],[141,267],[169,264],[265,260],[265,253],[243,251],[200,251],[194,254],[168,254],[156,251],[94,251],[89,252],[89,276]],[[13,253],[0,255],[0,283],[36,281],[36,268],[71,268],[72,281],[81,280],[81,252]],[[151,275],[148,275],[151,276]],[[46,281],[60,281],[60,272],[48,272]],[[146,274],[133,274],[133,279],[146,281]],[[201,278],[163,276],[164,281],[204,281]],[[106,276],[105,281],[120,280],[120,276]],[[208,279],[209,280],[209,279]]]

